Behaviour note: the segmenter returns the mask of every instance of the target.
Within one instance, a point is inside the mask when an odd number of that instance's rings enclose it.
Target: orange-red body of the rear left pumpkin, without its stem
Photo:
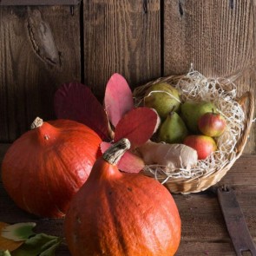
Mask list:
[[[3,187],[27,212],[63,217],[87,180],[101,141],[78,122],[45,121],[14,141],[4,155]]]

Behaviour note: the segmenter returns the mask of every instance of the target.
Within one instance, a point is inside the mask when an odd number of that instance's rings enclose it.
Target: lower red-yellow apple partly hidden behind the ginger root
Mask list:
[[[197,151],[199,160],[206,159],[217,149],[213,138],[206,135],[188,135],[183,143]]]

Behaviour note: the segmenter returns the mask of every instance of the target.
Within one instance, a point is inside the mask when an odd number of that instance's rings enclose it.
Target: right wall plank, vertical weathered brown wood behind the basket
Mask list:
[[[184,74],[194,69],[213,77],[236,77],[238,95],[256,92],[255,76],[246,72],[253,63],[253,1],[164,1],[164,75]],[[254,63],[255,64],[255,63]],[[254,73],[254,72],[253,72]],[[245,153],[256,153],[253,126]]]

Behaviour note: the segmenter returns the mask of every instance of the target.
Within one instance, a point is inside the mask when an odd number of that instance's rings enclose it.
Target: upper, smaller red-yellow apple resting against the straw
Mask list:
[[[208,112],[200,116],[198,128],[203,135],[219,137],[226,129],[226,120],[219,113]]]

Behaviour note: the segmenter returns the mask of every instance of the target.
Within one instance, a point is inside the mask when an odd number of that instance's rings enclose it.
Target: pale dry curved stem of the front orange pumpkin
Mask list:
[[[103,159],[111,165],[116,165],[120,161],[121,156],[131,147],[128,139],[123,138],[108,148],[103,154]]]

